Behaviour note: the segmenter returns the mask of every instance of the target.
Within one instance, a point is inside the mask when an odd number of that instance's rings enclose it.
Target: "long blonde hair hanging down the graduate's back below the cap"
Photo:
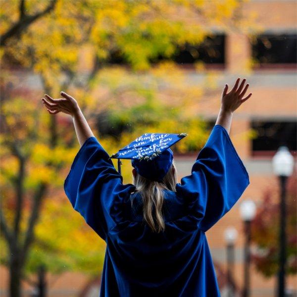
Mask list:
[[[136,173],[136,176],[133,176],[133,184],[136,187],[134,192],[139,192],[142,197],[144,220],[153,232],[159,233],[164,231],[165,223],[162,212],[164,190],[175,192],[177,184],[177,172],[174,161],[172,161],[172,165],[161,183],[151,181]],[[131,205],[133,206],[133,199]]]

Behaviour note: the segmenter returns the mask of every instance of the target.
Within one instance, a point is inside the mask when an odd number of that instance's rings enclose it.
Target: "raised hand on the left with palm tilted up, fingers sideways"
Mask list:
[[[47,94],[45,95],[47,99],[42,98],[42,101],[47,107],[47,110],[50,114],[56,114],[61,111],[73,116],[80,109],[76,99],[66,94],[65,92],[61,92],[60,94],[64,98],[53,99]]]

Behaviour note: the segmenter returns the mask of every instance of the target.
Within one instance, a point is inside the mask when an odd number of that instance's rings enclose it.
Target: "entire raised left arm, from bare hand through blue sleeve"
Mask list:
[[[50,114],[70,114],[81,148],[64,181],[64,191],[73,208],[106,241],[109,231],[122,221],[123,201],[135,190],[123,185],[108,153],[93,135],[76,100],[61,92],[62,99],[42,99]]]

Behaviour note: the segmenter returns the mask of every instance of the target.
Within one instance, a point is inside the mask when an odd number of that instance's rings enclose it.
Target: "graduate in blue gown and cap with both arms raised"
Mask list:
[[[181,183],[170,147],[186,133],[144,133],[108,155],[73,97],[42,99],[50,114],[73,118],[81,148],[64,191],[106,242],[100,297],[220,296],[205,232],[249,185],[229,137],[234,111],[252,95],[244,97],[245,83],[238,78],[229,93],[223,88],[215,126]],[[133,184],[123,184],[112,158],[131,159]]]

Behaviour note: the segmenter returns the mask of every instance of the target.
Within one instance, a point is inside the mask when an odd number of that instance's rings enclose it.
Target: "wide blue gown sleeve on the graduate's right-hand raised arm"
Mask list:
[[[191,175],[181,179],[176,192],[186,200],[200,230],[206,232],[232,208],[248,184],[247,170],[227,130],[215,125],[198,153]]]

